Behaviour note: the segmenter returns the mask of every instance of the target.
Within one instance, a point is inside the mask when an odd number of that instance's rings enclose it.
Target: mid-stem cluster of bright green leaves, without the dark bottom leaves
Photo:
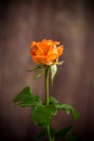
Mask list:
[[[39,126],[46,127],[53,115],[58,110],[64,110],[67,114],[71,113],[75,119],[79,117],[78,112],[69,104],[59,103],[54,97],[50,97],[50,104],[41,103],[39,95],[35,95],[29,87],[25,87],[13,100],[19,106],[32,106],[31,119]]]

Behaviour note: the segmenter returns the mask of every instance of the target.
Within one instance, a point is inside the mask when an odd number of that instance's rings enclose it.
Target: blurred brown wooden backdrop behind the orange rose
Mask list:
[[[32,40],[53,39],[65,52],[51,94],[72,104],[80,113],[58,113],[52,127],[59,129],[73,123],[75,131],[85,140],[94,139],[94,11],[91,1],[33,0],[0,3],[0,138],[33,140],[40,128],[30,121],[30,110],[14,107],[13,98],[25,87],[44,97],[43,77],[33,81],[26,72],[35,64],[29,55]],[[41,82],[40,82],[41,81]]]

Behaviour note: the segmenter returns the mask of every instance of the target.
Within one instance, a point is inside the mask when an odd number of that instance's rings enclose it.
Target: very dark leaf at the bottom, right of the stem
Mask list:
[[[66,128],[61,129],[59,131],[56,132],[55,139],[61,139],[65,137],[71,129],[72,129],[72,126],[68,126]]]

